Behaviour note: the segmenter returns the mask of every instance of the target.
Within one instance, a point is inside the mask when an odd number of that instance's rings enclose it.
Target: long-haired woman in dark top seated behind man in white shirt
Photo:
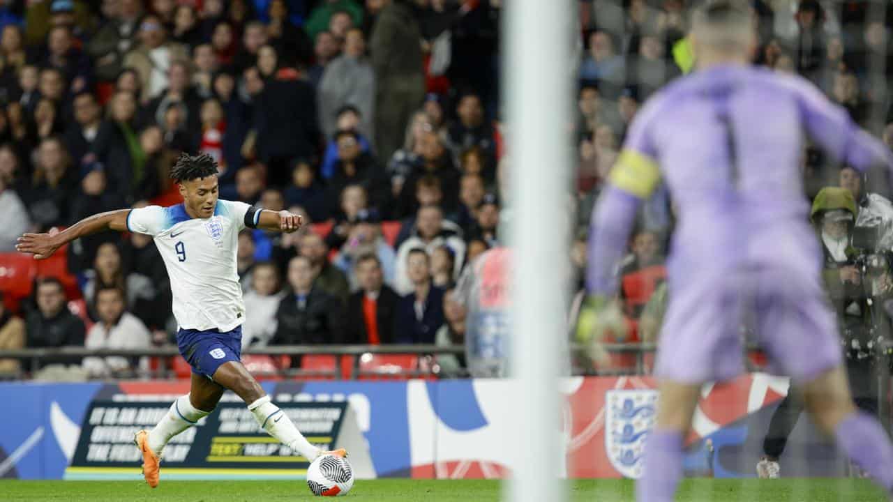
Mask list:
[[[82,291],[90,307],[91,317],[97,319],[95,310],[96,291],[106,287],[120,288],[124,292],[127,309],[140,318],[150,313],[158,294],[152,280],[141,273],[129,272],[123,263],[118,242],[104,242],[96,247],[93,269],[84,273],[86,282]]]

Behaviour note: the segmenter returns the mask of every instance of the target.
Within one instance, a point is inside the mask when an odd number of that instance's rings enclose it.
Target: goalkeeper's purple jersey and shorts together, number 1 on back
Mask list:
[[[806,381],[840,364],[800,159],[807,138],[864,171],[891,163],[804,79],[718,66],[679,79],[633,121],[589,233],[590,293],[612,295],[639,202],[663,181],[677,216],[669,305],[655,374],[727,380],[741,371],[740,326],[773,369]]]

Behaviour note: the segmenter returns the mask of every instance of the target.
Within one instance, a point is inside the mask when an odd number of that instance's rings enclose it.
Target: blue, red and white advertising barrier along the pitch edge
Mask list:
[[[338,444],[338,436],[346,433],[346,426],[337,431],[339,420],[355,423],[354,439],[344,437],[339,444],[350,443],[357,458],[368,455],[363,477],[499,478],[518,456],[505,447],[517,443],[506,431],[525,396],[510,379],[261,385],[288,408],[302,431],[323,443]],[[154,423],[188,386],[188,381],[0,382],[0,398],[15,410],[0,414],[0,478],[138,480],[132,433]],[[687,472],[752,477],[770,416],[787,389],[787,380],[764,373],[705,387],[687,440]],[[562,416],[567,476],[638,476],[636,452],[653,423],[655,381],[646,376],[568,377],[560,390],[564,405],[555,413]],[[244,410],[237,396],[224,394],[203,425],[171,443],[177,447],[171,459],[179,464],[171,460],[162,475],[299,478],[305,461],[283,455],[256,423],[246,420]],[[246,458],[261,454],[267,458]],[[847,463],[808,420],[797,423],[785,456],[789,476],[847,472]]]

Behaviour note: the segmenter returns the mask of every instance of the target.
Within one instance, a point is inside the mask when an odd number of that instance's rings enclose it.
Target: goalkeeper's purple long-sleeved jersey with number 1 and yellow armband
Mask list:
[[[814,259],[813,243],[778,242],[761,255],[761,233],[807,225],[800,159],[807,138],[860,171],[891,164],[889,150],[805,79],[762,68],[720,66],[676,80],[633,121],[590,232],[588,289],[611,294],[615,264],[638,201],[663,180],[678,226],[670,272],[729,272],[742,260]],[[800,227],[800,228],[791,228]],[[810,239],[806,239],[810,240]],[[786,245],[780,247],[780,245]],[[784,256],[780,256],[780,254]],[[676,270],[673,270],[676,269]]]

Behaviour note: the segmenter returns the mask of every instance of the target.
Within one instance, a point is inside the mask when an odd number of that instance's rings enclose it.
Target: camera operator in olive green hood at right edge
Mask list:
[[[886,256],[878,252],[880,228],[856,228],[855,199],[846,188],[822,188],[815,196],[810,219],[822,243],[822,280],[838,316],[855,404],[865,413],[877,414],[877,354],[873,349],[887,332],[886,314],[879,307],[889,297],[889,265]],[[764,456],[756,464],[759,477],[779,477],[779,456],[803,409],[802,395],[791,386],[772,414]]]

